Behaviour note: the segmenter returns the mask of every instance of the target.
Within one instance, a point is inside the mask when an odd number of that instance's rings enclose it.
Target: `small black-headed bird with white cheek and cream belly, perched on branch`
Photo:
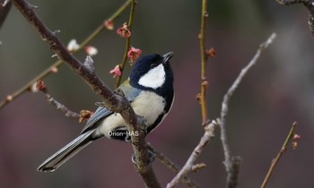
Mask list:
[[[173,73],[169,63],[173,52],[163,56],[153,54],[139,58],[129,77],[117,90],[122,91],[136,115],[144,118],[146,133],[152,132],[166,117],[173,103]],[[98,107],[83,127],[81,134],[58,150],[37,170],[53,172],[85,146],[103,136],[120,141],[131,141],[126,123],[118,113]]]

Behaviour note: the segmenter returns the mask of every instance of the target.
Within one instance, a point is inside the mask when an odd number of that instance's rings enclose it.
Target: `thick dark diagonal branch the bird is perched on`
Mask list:
[[[23,14],[34,28],[39,32],[40,37],[48,43],[48,46],[54,50],[56,55],[69,65],[75,73],[85,81],[92,90],[100,96],[104,101],[106,107],[111,111],[119,113],[126,122],[127,129],[130,132],[139,132],[138,136],[131,135],[132,147],[135,151],[136,171],[142,176],[144,184],[147,187],[160,187],[157,178],[153,173],[153,168],[150,165],[148,158],[148,150],[145,142],[145,132],[141,124],[144,124],[143,119],[135,115],[133,108],[126,98],[114,94],[109,88],[100,80],[99,76],[91,72],[70,54],[65,46],[57,38],[55,33],[48,30],[47,26],[39,19],[36,13],[31,9],[31,5],[25,0],[12,0],[16,8]]]

